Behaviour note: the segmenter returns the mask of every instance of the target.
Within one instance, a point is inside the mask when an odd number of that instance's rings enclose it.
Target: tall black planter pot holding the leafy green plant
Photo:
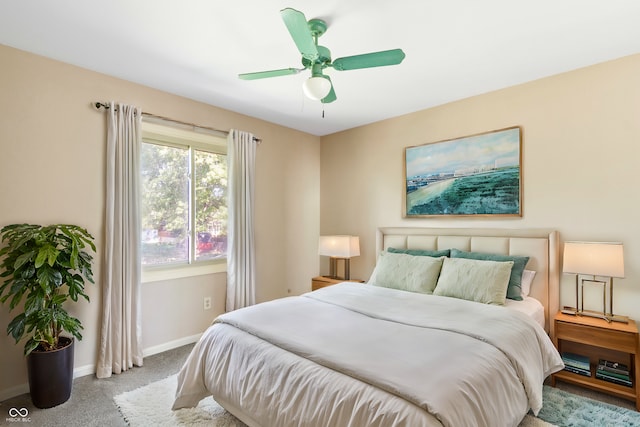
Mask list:
[[[33,351],[27,356],[29,392],[37,408],[51,408],[69,400],[73,385],[73,338],[61,337],[67,345],[53,351]]]

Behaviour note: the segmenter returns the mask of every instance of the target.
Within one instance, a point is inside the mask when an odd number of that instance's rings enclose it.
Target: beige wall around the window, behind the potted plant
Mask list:
[[[82,225],[102,247],[106,116],[91,102],[125,102],[144,111],[263,139],[256,185],[257,297],[310,290],[318,272],[320,138],[0,45],[0,226],[16,222]],[[96,362],[101,252],[91,303],[70,310],[85,327],[77,372]],[[178,345],[224,308],[226,275],[145,283],[143,347]],[[203,297],[213,309],[203,310]],[[25,392],[22,344],[4,333],[13,316],[0,307],[0,400]]]

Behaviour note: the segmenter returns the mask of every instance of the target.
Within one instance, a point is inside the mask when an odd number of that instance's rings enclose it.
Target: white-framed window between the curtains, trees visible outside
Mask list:
[[[226,138],[143,122],[142,266],[226,260]]]

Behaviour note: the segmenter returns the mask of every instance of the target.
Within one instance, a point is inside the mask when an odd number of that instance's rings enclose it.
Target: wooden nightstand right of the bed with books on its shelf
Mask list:
[[[638,389],[640,350],[636,322],[629,319],[629,323],[608,323],[602,319],[564,313],[558,313],[554,322],[553,343],[558,351],[588,357],[591,364],[591,376],[587,377],[562,370],[552,375],[551,385],[555,386],[557,380],[580,385],[636,402],[636,409],[640,410]],[[596,378],[595,372],[600,359],[629,366],[632,387]]]

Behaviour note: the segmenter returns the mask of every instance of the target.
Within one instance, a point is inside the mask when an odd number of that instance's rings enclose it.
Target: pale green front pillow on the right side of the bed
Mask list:
[[[445,258],[434,295],[504,305],[513,261]]]

